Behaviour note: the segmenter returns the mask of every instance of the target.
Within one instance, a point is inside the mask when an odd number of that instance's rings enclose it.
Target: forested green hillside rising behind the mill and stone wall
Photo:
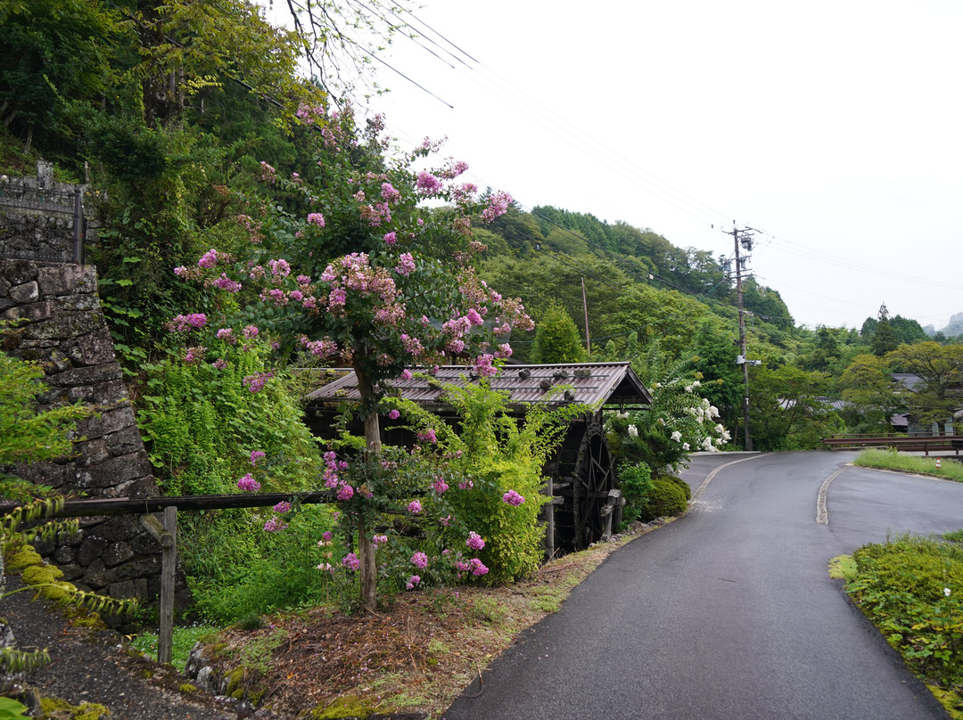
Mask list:
[[[316,62],[324,64],[325,47],[312,51]],[[0,165],[31,173],[43,157],[60,179],[90,184],[89,212],[104,225],[91,257],[132,383],[144,380],[144,363],[168,361],[165,323],[198,298],[222,302],[210,288],[198,296],[173,268],[247,242],[239,218],[262,219],[259,203],[310,210],[290,182],[264,182],[317,166],[312,141],[327,120],[313,109],[341,104],[323,80],[300,75],[303,53],[303,37],[272,27],[245,0],[13,0],[0,10]],[[404,154],[377,141],[386,156]],[[701,373],[722,424],[741,438],[738,312],[724,258],[590,210],[509,206],[490,224],[474,223],[481,277],[519,296],[536,323],[531,332],[516,328],[513,358],[629,359],[650,384],[683,368]],[[351,247],[324,252],[342,250]],[[795,327],[778,289],[751,276],[743,303],[747,357],[761,361],[749,383],[757,448],[812,447],[846,424],[866,429],[864,411],[844,418],[820,398],[843,397],[844,371],[857,356],[884,357],[927,339],[898,315],[867,319],[859,330]],[[551,337],[578,338],[581,348]]]

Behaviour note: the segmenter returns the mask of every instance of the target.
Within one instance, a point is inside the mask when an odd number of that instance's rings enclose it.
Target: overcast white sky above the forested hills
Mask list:
[[[756,228],[800,324],[963,312],[963,2],[425,2],[442,59],[386,59],[445,102],[381,70],[370,108],[482,188],[716,255]]]

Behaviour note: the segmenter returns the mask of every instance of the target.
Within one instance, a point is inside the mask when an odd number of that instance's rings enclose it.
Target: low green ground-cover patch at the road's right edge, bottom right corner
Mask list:
[[[846,575],[849,597],[910,671],[951,718],[963,720],[963,548],[903,535],[860,548],[836,569]]]

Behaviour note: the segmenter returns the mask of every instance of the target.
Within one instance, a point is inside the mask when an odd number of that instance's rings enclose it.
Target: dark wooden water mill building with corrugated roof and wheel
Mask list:
[[[395,380],[403,399],[412,400],[448,423],[457,419],[443,399],[442,385],[471,382],[471,368],[463,365],[440,368],[432,378],[415,376]],[[565,386],[567,391],[559,389]],[[560,405],[582,402],[599,409],[569,424],[565,437],[545,465],[545,492],[552,501],[545,505],[546,553],[583,550],[612,532],[621,520],[624,501],[616,488],[615,466],[603,427],[602,407],[638,407],[652,396],[627,362],[564,365],[509,365],[491,379],[493,390],[508,393],[508,407],[521,417],[525,405]],[[357,380],[348,372],[308,395],[308,424],[316,436],[331,437],[331,420],[344,401],[359,400]],[[360,432],[358,428],[352,428]],[[414,436],[401,424],[381,418],[381,442],[410,447]]]

